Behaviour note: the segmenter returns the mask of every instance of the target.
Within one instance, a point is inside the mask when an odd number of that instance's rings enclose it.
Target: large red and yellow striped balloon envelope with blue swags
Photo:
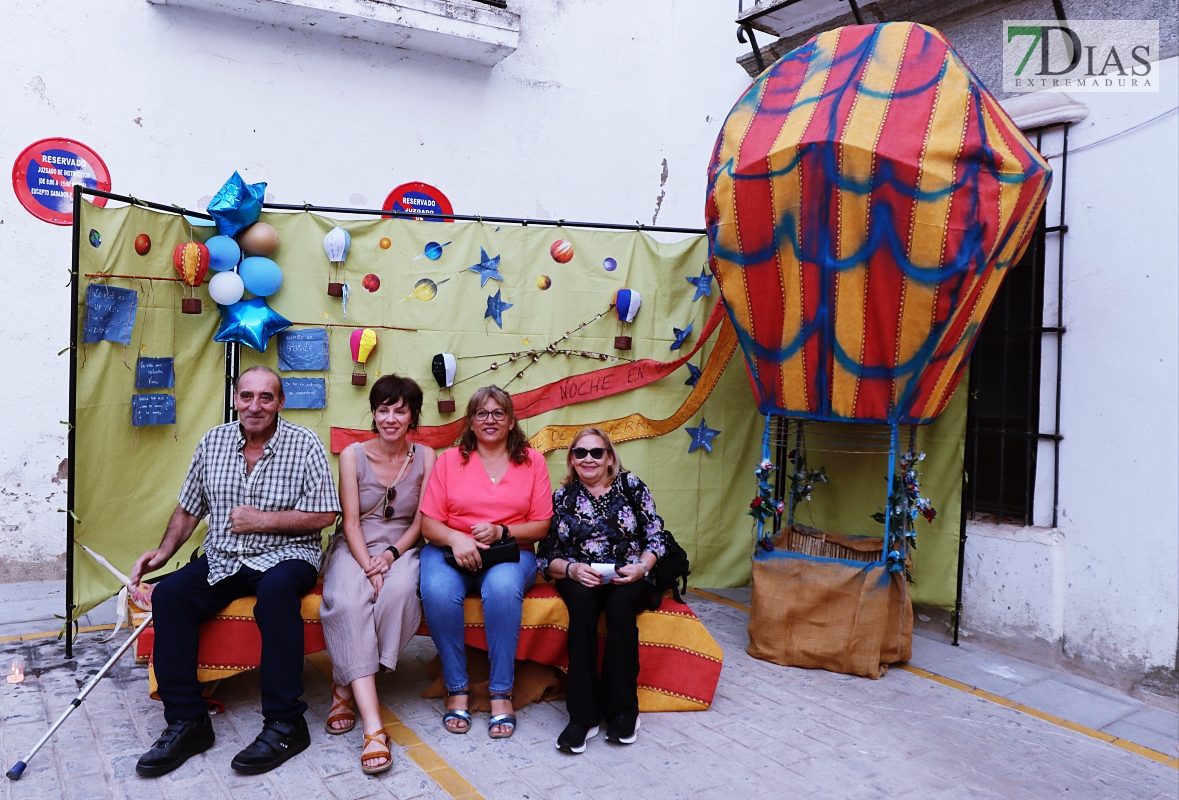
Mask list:
[[[844,27],[782,57],[725,120],[705,204],[759,410],[934,419],[1049,178],[933,28]]]

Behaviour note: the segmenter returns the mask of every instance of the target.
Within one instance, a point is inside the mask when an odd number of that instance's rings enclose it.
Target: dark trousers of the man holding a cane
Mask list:
[[[209,560],[200,556],[160,581],[152,591],[156,647],[152,661],[164,719],[169,722],[205,714],[197,681],[200,623],[238,597],[256,595],[253,619],[262,633],[262,714],[266,721],[303,716],[303,595],[317,570],[291,558],[259,573],[243,566],[209,586]]]

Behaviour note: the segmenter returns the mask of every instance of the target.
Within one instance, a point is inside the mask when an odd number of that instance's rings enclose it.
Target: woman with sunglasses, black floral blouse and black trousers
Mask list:
[[[635,617],[654,594],[651,569],[664,554],[666,534],[647,487],[623,471],[604,431],[586,428],[574,436],[566,464],[536,567],[556,581],[569,609],[569,723],[556,747],[584,753],[602,719],[608,723],[608,741],[630,745],[638,734]],[[599,676],[598,616],[602,610],[607,634]]]

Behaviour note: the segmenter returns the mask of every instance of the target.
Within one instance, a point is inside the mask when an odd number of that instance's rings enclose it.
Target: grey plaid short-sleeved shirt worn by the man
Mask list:
[[[209,583],[229,577],[242,564],[265,571],[289,558],[320,567],[320,533],[235,534],[229,513],[238,505],[259,511],[335,511],[340,497],[328,468],[323,442],[314,431],[278,417],[278,427],[263,445],[253,471],[245,474],[245,437],[232,422],[204,435],[180,489],[180,507],[196,517],[209,517],[205,555]]]

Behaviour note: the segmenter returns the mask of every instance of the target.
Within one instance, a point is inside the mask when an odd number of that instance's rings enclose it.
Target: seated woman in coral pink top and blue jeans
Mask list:
[[[546,536],[553,516],[545,457],[528,447],[506,391],[483,386],[472,396],[459,447],[439,456],[421,509],[429,542],[421,554],[422,608],[442,660],[442,723],[450,733],[470,729],[462,602],[477,591],[492,672],[487,732],[506,739],[516,725],[512,686],[523,593],[536,581],[533,544]],[[519,561],[485,567],[482,554],[507,538],[519,544]]]

